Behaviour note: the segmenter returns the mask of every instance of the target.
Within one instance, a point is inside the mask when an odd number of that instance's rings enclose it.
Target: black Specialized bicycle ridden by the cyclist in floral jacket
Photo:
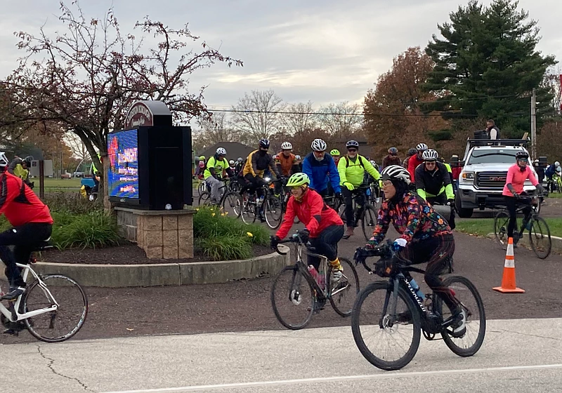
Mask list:
[[[372,256],[381,257],[374,264],[374,270],[366,260]],[[408,265],[400,265],[391,241],[386,241],[374,250],[358,248],[353,256],[355,263],[361,263],[369,274],[388,278],[375,281],[358,295],[351,314],[353,340],[359,351],[372,365],[392,371],[403,368],[412,361],[421,339],[436,340],[440,335],[445,345],[460,357],[470,357],[481,348],[486,318],[482,298],[476,287],[461,276],[449,276],[443,283],[451,288],[466,314],[466,331],[455,333],[451,327],[455,321],[450,309],[436,293],[420,298],[410,284],[410,272],[425,273]],[[452,272],[450,260],[449,272]],[[389,340],[393,340],[389,342]],[[381,349],[377,349],[377,346]],[[403,350],[404,354],[391,352]]]

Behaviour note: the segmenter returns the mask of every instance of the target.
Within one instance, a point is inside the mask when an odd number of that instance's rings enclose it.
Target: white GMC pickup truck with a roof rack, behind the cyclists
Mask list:
[[[497,208],[504,206],[502,192],[507,178],[507,170],[515,164],[515,154],[525,151],[528,140],[483,140],[469,139],[466,142],[464,159],[459,163],[459,187],[455,204],[459,217],[471,217],[478,208]],[[531,170],[537,176],[535,169]],[[535,187],[527,180],[525,191]]]

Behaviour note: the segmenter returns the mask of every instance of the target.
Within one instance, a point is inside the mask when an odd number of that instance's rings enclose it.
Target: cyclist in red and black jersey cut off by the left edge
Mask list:
[[[7,166],[6,154],[0,152],[0,214],[6,215],[13,226],[0,233],[0,258],[10,283],[2,299],[14,300],[25,292],[25,281],[15,264],[29,262],[32,249],[51,237],[53,218],[41,199],[23,180],[9,173]]]

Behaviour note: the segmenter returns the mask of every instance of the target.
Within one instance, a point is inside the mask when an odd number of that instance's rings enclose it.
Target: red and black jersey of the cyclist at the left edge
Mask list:
[[[2,213],[13,227],[28,222],[53,223],[46,204],[41,202],[23,180],[11,173],[0,175],[0,214]]]

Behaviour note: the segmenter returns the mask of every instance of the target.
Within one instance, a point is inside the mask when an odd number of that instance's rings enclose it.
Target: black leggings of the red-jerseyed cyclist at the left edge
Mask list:
[[[25,286],[20,268],[15,264],[30,262],[32,249],[51,237],[52,227],[46,222],[29,222],[0,233],[0,258],[6,265],[11,286]],[[13,251],[8,246],[14,246]]]

